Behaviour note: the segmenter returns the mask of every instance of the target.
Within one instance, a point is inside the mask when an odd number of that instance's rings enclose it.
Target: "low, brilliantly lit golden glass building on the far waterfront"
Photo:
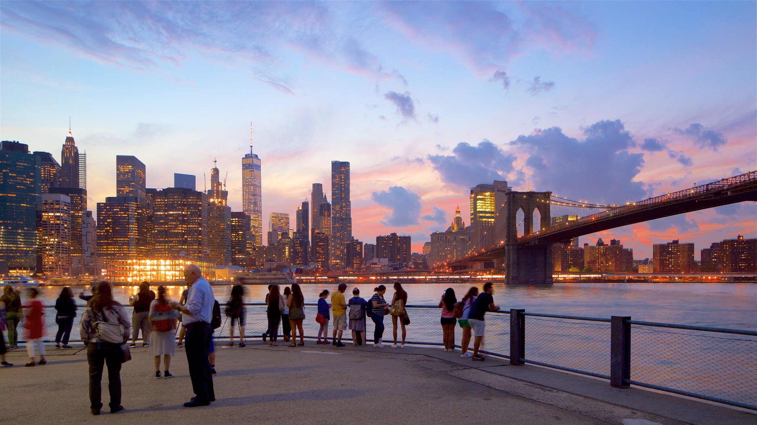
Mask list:
[[[191,259],[117,259],[107,263],[107,280],[138,284],[148,282],[184,282],[184,268],[198,265],[208,281],[216,278],[216,265]]]

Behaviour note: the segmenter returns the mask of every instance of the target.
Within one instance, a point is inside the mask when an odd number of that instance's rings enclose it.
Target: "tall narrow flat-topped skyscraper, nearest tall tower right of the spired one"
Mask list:
[[[352,240],[350,163],[332,161],[332,265],[344,266],[344,244]],[[409,254],[408,254],[409,256]]]

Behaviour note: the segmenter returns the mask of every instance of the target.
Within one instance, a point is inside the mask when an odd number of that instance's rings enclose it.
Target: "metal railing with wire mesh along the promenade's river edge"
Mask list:
[[[127,311],[130,308],[126,307]],[[58,330],[48,307],[45,342]],[[305,338],[315,339],[319,324],[316,304],[306,304]],[[222,306],[223,311],[223,306]],[[80,342],[79,315],[71,342]],[[407,306],[410,324],[405,343],[442,346],[440,309]],[[217,341],[229,340],[231,321],[223,318],[215,330]],[[333,319],[333,318],[332,318]],[[384,318],[383,339],[393,338],[392,318]],[[266,306],[245,304],[245,338],[260,338],[267,330]],[[366,340],[373,341],[374,324],[366,319]],[[283,325],[279,324],[279,338]],[[19,326],[19,330],[21,327]],[[329,326],[329,333],[332,327]],[[238,337],[238,330],[235,337]],[[331,335],[329,334],[329,338]],[[401,330],[397,330],[398,341]],[[462,331],[455,330],[456,347]],[[344,341],[351,342],[350,330]],[[23,341],[19,341],[23,343]],[[472,347],[473,341],[470,346]],[[472,348],[469,348],[472,349]],[[480,352],[509,359],[511,365],[533,364],[610,380],[619,388],[630,385],[757,410],[757,331],[633,321],[630,317],[593,318],[525,312],[489,312]]]

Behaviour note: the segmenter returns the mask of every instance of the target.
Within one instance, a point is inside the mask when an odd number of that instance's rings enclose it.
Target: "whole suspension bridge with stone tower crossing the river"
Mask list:
[[[513,284],[552,283],[552,246],[568,244],[578,236],[634,223],[662,219],[731,203],[757,201],[757,171],[723,178],[706,185],[628,202],[605,205],[569,200],[552,192],[511,191],[506,181],[494,182],[497,210],[494,244],[447,263],[453,271],[474,268],[502,268],[506,282]],[[553,225],[560,212],[589,210]],[[562,214],[561,214],[562,215]]]

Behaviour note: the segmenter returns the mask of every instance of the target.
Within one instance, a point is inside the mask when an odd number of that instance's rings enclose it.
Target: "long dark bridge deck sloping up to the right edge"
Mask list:
[[[567,243],[572,238],[584,234],[746,201],[757,202],[757,171],[623,206],[610,207],[601,213],[518,237],[515,244],[504,241],[488,250],[450,262],[449,266],[453,270],[459,270],[472,264],[502,259],[507,247],[512,245],[523,247]]]

